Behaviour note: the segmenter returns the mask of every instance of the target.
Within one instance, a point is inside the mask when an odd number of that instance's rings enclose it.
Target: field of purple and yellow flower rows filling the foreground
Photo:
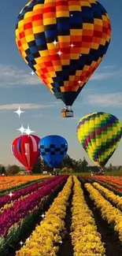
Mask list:
[[[0,197],[1,256],[122,255],[120,177],[31,182]]]

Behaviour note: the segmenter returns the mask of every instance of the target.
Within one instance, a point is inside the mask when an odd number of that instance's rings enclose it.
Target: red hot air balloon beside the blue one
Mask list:
[[[39,137],[35,135],[21,135],[13,140],[11,150],[15,158],[25,169],[31,172],[35,161],[39,158]]]

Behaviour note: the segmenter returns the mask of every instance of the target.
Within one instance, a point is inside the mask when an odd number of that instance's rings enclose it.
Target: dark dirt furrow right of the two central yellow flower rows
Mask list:
[[[122,247],[120,246],[120,240],[113,229],[109,228],[107,221],[104,221],[101,217],[100,211],[94,206],[94,202],[91,200],[87,189],[82,185],[83,193],[90,210],[94,215],[95,223],[98,227],[98,232],[102,235],[102,242],[105,243],[105,255],[106,256],[121,256]]]

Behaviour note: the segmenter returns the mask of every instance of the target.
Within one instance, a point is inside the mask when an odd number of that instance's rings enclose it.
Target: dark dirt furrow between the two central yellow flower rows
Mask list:
[[[73,256],[73,247],[72,247],[72,239],[70,236],[70,228],[72,224],[72,212],[71,212],[71,207],[72,207],[72,195],[73,191],[68,199],[68,207],[66,211],[66,217],[65,217],[65,235],[64,239],[62,239],[61,245],[59,246],[59,250],[57,252],[57,256]]]

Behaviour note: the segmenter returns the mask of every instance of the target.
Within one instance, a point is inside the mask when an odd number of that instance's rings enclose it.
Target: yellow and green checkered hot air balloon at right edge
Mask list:
[[[76,132],[94,164],[104,166],[119,145],[122,124],[109,113],[90,113],[79,120]]]

